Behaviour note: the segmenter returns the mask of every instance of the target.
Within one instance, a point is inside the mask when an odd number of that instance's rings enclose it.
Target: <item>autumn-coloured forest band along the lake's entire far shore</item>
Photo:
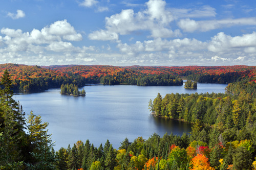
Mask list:
[[[0,77],[10,72],[13,89],[19,91],[60,88],[61,84],[86,83],[103,85],[173,86],[182,85],[182,78],[198,83],[232,83],[241,77],[252,76],[255,66],[108,66],[63,65],[28,66],[0,64]]]

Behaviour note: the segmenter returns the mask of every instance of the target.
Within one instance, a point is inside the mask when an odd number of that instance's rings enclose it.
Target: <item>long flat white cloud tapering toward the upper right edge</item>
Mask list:
[[[193,19],[181,19],[178,26],[185,32],[201,31],[206,32],[224,27],[231,27],[236,25],[256,25],[256,17],[237,18],[237,19],[221,19],[221,20],[204,20],[196,21]]]

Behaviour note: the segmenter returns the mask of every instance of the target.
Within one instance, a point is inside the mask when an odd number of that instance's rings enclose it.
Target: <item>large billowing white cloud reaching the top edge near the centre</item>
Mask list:
[[[109,35],[120,34],[127,35],[137,31],[150,31],[151,36],[172,37],[180,36],[179,30],[173,31],[169,23],[174,20],[172,13],[165,8],[166,2],[162,0],[150,0],[145,3],[146,9],[134,12],[133,9],[122,10],[118,14],[105,17],[105,30],[94,31],[89,34],[90,39],[94,40],[113,40],[118,36],[110,36],[112,38],[100,37],[101,34]]]

